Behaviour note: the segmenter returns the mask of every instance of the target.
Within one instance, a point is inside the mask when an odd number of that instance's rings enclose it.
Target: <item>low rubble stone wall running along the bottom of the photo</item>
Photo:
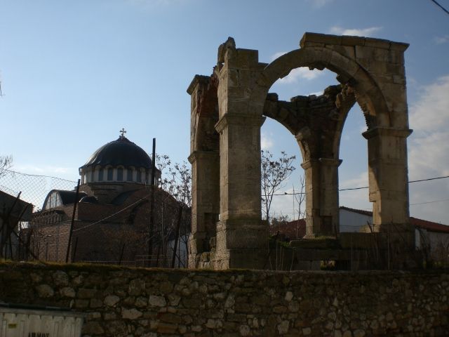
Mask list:
[[[0,300],[85,312],[83,336],[446,336],[449,272],[0,265]]]

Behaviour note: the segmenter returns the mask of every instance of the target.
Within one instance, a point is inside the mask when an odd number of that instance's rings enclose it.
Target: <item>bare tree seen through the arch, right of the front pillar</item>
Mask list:
[[[286,180],[295,171],[293,161],[296,157],[288,156],[286,152],[282,151],[279,159],[273,159],[272,153],[262,150],[261,159],[262,206],[267,220],[269,220],[269,209],[272,206],[273,196],[282,187],[285,187]]]

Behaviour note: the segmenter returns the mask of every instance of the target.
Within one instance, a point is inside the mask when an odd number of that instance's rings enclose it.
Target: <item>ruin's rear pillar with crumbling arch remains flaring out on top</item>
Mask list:
[[[340,137],[354,94],[347,86],[329,86],[323,95],[296,96],[279,101],[270,93],[264,116],[285,126],[296,138],[305,170],[307,234],[337,235],[339,229],[338,175]]]

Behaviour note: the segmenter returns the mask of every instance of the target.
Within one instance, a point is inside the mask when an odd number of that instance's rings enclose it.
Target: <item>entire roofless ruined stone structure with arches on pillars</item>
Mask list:
[[[260,196],[260,127],[270,117],[295,136],[306,178],[307,238],[338,236],[338,166],[344,121],[354,103],[366,118],[369,200],[376,232],[412,244],[408,214],[408,108],[403,53],[408,44],[305,33],[300,48],[270,64],[229,38],[210,77],[192,97],[192,236],[189,266],[267,267],[268,225]],[[297,67],[337,74],[316,97],[280,101],[269,88]]]

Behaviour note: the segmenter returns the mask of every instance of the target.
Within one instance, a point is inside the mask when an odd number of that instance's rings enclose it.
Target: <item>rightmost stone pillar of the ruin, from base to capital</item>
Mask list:
[[[411,230],[407,226],[410,222],[407,137],[411,132],[408,129],[373,128],[363,133],[368,139],[369,196],[377,232]]]

